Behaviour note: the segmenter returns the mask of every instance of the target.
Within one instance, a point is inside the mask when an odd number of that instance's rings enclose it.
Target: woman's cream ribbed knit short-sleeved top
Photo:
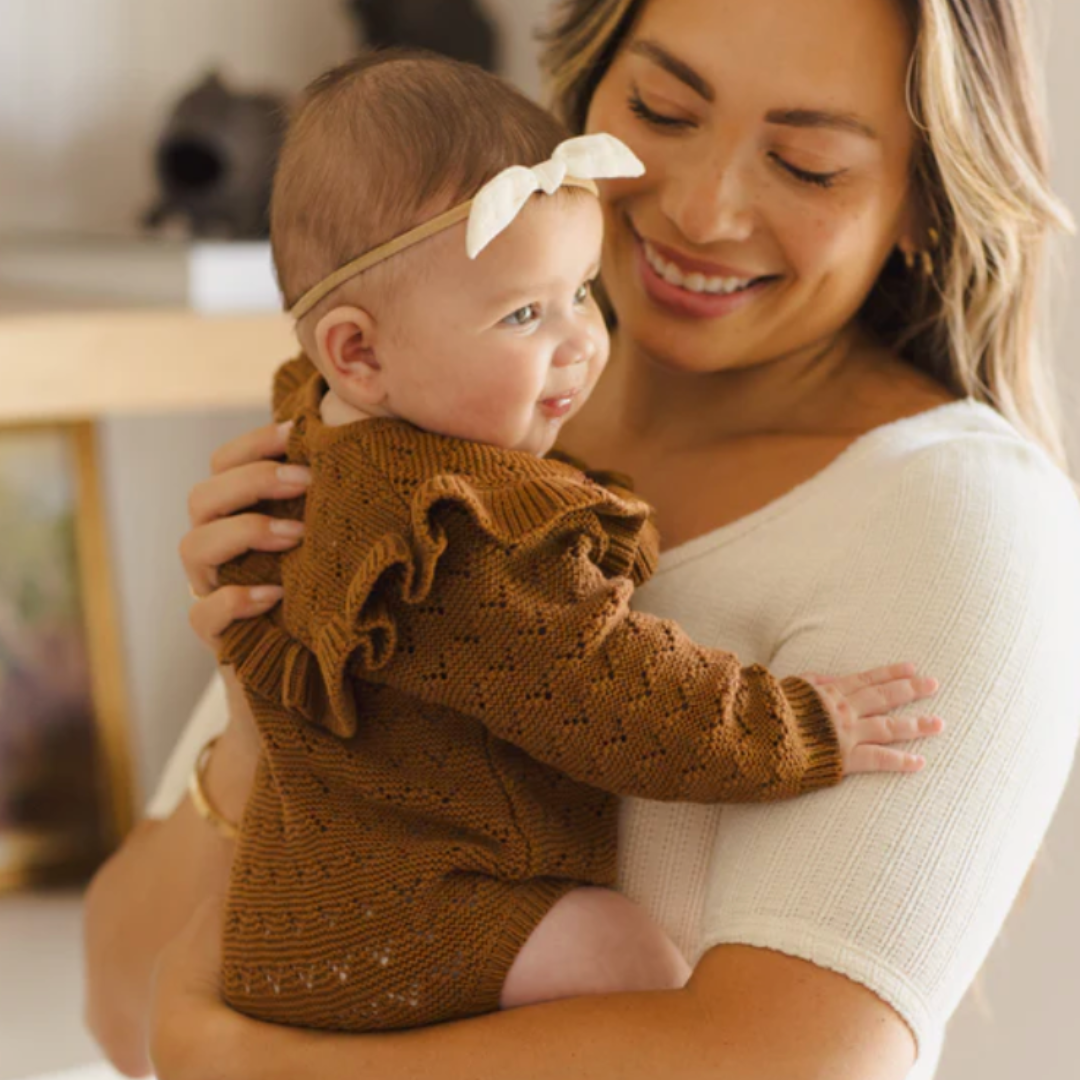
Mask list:
[[[842,972],[907,1021],[910,1080],[928,1080],[1076,750],[1071,485],[991,409],[945,405],[870,432],[762,510],[666,552],[636,606],[778,675],[913,661],[941,680],[929,705],[948,728],[919,744],[919,775],[854,777],[765,806],[624,799],[620,822],[621,890],[691,962],[740,943]],[[215,687],[151,816],[178,804],[224,721]]]

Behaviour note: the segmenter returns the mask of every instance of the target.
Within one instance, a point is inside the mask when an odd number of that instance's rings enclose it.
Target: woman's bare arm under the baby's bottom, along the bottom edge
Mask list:
[[[681,990],[578,997],[413,1031],[332,1035],[226,1016],[229,1034],[162,1080],[901,1080],[904,1022],[804,960],[721,946]],[[176,1037],[191,1047],[194,1026]],[[178,1057],[175,1059],[179,1059]]]

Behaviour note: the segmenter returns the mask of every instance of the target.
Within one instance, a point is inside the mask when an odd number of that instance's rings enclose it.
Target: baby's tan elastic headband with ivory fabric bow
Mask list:
[[[469,258],[474,259],[517,217],[522,207],[537,191],[550,195],[561,187],[575,187],[584,188],[595,195],[599,192],[594,180],[640,176],[644,172],[645,165],[625,143],[613,135],[579,135],[577,138],[567,139],[555,147],[555,152],[548,161],[531,168],[524,165],[511,165],[510,168],[504,168],[498,176],[488,180],[468,202],[460,203],[430,221],[424,221],[415,229],[409,229],[408,232],[403,232],[400,237],[347,262],[318,285],[309,288],[293,305],[289,314],[299,321],[342,282],[355,278],[377,262],[382,262],[414,244],[419,244],[436,232],[449,229],[467,217],[469,226],[465,233],[465,252]]]

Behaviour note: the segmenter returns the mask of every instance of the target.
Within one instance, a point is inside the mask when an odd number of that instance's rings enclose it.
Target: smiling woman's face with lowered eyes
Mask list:
[[[849,326],[913,235],[912,44],[897,0],[646,0],[588,120],[646,165],[604,185],[620,334],[704,373]]]

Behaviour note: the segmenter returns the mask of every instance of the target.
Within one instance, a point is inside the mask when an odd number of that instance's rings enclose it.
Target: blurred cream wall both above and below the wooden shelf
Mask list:
[[[528,6],[487,3],[504,24],[504,69],[537,93]],[[532,0],[531,11],[543,6]],[[0,0],[0,243],[5,233],[136,232],[154,198],[153,139],[205,71],[292,94],[353,55],[355,40],[343,0]],[[214,447],[260,420],[218,413],[102,424],[144,789],[211,670],[188,630],[176,558],[185,496]]]

